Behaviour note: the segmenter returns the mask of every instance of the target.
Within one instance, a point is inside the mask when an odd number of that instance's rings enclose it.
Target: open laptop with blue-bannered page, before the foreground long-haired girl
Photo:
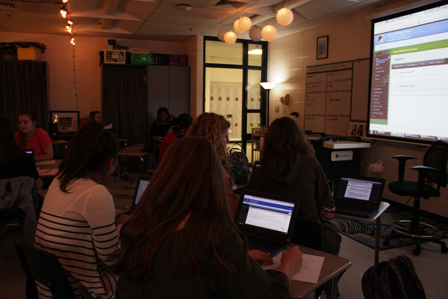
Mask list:
[[[246,235],[249,250],[273,257],[290,242],[298,209],[298,198],[243,190],[235,222]]]

